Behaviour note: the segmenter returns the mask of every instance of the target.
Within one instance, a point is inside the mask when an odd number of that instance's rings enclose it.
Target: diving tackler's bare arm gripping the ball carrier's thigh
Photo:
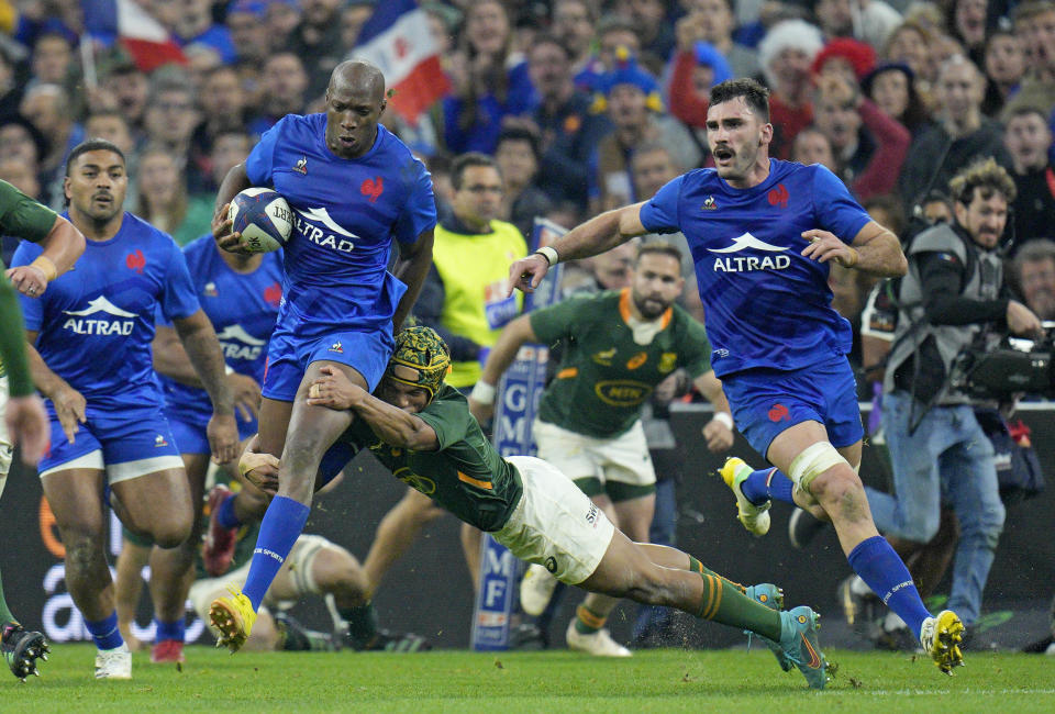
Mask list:
[[[436,432],[414,414],[382,402],[338,369],[326,366],[320,371],[322,376],[308,388],[309,404],[341,411],[351,409],[389,446],[414,451],[440,448]]]

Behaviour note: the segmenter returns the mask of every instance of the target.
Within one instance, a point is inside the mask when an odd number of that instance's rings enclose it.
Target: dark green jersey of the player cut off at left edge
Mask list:
[[[0,234],[13,235],[23,241],[36,243],[47,236],[55,225],[56,213],[41,205],[7,181],[0,180]],[[22,315],[12,290],[3,277],[7,266],[0,261],[0,377],[7,373],[4,357],[9,361],[10,379],[8,387],[12,397],[24,397],[33,392],[29,364],[25,359],[25,332]]]

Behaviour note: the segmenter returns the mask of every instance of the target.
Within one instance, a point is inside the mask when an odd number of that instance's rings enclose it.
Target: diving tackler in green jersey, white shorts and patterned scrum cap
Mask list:
[[[544,565],[563,582],[591,592],[678,607],[751,631],[764,638],[785,670],[798,667],[810,687],[824,687],[828,663],[817,640],[817,613],[807,606],[781,612],[776,585],[744,588],[680,550],[633,543],[548,462],[499,456],[465,397],[443,383],[449,362],[435,332],[410,327],[396,337],[377,397],[340,370],[323,368],[308,401],[354,411],[358,419],[341,440],[368,447],[393,476],[492,533],[518,558]],[[275,491],[274,457],[246,454],[240,468],[260,488]],[[256,614],[237,594],[214,601],[210,617],[221,642],[237,649]]]

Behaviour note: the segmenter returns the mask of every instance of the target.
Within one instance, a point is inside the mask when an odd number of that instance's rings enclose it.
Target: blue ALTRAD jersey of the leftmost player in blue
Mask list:
[[[29,265],[41,253],[23,241],[12,264]],[[155,314],[178,320],[199,310],[179,246],[131,213],[109,241],[88,241],[74,269],[40,299],[20,298],[48,368],[102,409],[160,404],[151,352]]]

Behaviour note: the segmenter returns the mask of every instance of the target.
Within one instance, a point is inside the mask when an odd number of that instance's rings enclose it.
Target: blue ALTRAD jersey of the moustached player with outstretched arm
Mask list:
[[[719,377],[800,369],[849,352],[853,333],[831,306],[829,266],[801,255],[801,234],[822,228],[851,243],[870,219],[826,168],[770,159],[769,176],[749,189],[697,169],[663,187],[641,220],[688,241]]]

